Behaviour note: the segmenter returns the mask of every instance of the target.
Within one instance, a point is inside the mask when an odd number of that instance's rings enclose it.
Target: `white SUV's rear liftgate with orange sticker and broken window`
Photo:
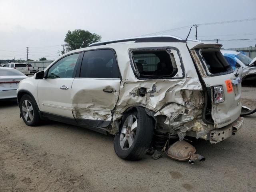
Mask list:
[[[241,81],[220,52],[220,44],[189,46],[195,63],[211,94],[214,127],[234,122],[241,112]],[[209,92],[210,91],[210,92]]]

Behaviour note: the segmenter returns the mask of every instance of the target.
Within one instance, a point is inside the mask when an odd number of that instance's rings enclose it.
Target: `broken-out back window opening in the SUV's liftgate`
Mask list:
[[[211,74],[218,74],[232,70],[224,56],[218,49],[201,49],[202,58]]]

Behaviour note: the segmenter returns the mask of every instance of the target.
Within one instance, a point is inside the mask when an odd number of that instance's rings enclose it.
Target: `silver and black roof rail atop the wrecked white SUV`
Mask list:
[[[127,39],[118,39],[112,41],[102,41],[90,44],[88,47],[92,46],[100,46],[112,43],[120,43],[120,42],[130,42],[134,41],[135,43],[142,43],[142,42],[186,42],[182,38],[176,36],[169,36],[169,35],[161,35],[161,36],[144,36],[144,37],[134,37],[134,38],[127,38]]]

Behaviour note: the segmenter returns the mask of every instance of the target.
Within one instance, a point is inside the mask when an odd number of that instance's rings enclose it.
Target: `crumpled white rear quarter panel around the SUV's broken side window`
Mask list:
[[[146,46],[143,43],[137,45]],[[156,46],[159,47],[159,43]],[[170,43],[170,46],[174,46],[174,44]],[[120,84],[119,100],[113,114],[114,121],[120,119],[127,108],[142,106],[154,112],[154,118],[158,120],[156,129],[161,132],[170,132],[171,129],[181,139],[187,130],[200,131],[206,128],[202,122],[204,94],[190,53],[186,51],[188,50],[186,44],[175,44],[175,47],[178,50],[185,49],[182,53],[174,54],[178,72],[183,70],[184,76],[154,80],[140,80],[134,76],[128,54],[123,54],[132,47],[126,47],[126,51],[122,51],[121,48],[116,49],[123,80]],[[185,62],[186,65],[184,65]],[[139,88],[146,88],[145,96],[139,94]]]

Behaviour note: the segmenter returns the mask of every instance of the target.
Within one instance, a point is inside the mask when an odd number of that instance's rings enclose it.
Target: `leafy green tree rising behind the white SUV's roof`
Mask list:
[[[76,29],[74,31],[68,30],[68,33],[64,39],[66,42],[66,52],[88,47],[92,43],[99,42],[100,39],[100,35],[82,29]],[[62,54],[64,54],[63,51]]]

